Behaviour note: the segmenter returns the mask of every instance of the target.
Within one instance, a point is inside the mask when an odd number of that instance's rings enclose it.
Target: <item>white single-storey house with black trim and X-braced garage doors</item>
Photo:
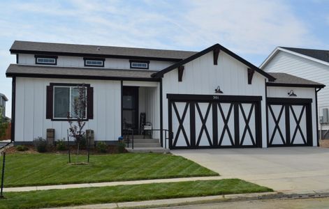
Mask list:
[[[87,88],[86,128],[115,143],[152,124],[163,147],[317,146],[316,90],[324,85],[264,72],[216,44],[201,52],[15,41],[13,139],[66,137],[75,86]],[[297,94],[297,95],[296,95]]]

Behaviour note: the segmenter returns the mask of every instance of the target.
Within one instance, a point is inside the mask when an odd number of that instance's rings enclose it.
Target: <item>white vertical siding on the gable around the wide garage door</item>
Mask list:
[[[167,72],[163,75],[163,129],[168,129],[168,93],[262,96],[261,109],[265,110],[265,77],[255,72],[252,84],[248,84],[247,68],[240,61],[221,51],[218,65],[214,65],[212,52],[184,64],[182,82],[178,82],[177,68]],[[217,86],[220,86],[223,94],[214,93]],[[265,111],[261,113],[262,124],[266,124],[264,113]],[[265,127],[262,128],[262,146],[267,147]]]

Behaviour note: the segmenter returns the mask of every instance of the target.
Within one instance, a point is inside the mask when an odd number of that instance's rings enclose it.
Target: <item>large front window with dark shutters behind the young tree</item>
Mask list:
[[[67,114],[70,113],[72,119],[76,119],[74,112],[74,102],[79,99],[79,87],[85,86],[86,109],[79,114],[80,118],[93,118],[93,88],[89,84],[50,84],[47,86],[47,107],[46,118],[52,121],[66,121]]]

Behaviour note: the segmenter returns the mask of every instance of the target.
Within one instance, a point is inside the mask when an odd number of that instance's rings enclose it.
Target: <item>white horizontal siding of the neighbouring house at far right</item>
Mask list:
[[[263,67],[265,72],[286,72],[297,77],[309,79],[314,82],[325,84],[326,87],[318,92],[319,116],[322,116],[322,109],[329,109],[329,66],[315,61],[279,51]],[[313,89],[313,88],[312,88]],[[328,130],[329,125],[323,125]]]

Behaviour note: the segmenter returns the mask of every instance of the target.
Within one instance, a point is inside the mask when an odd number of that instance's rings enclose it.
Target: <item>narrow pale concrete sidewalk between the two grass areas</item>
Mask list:
[[[129,181],[114,181],[105,183],[85,183],[85,184],[73,184],[73,185],[50,185],[50,186],[36,186],[36,187],[7,187],[3,188],[3,192],[29,192],[36,190],[50,190],[50,189],[73,189],[73,188],[85,188],[85,187],[109,187],[117,185],[142,185],[149,183],[173,183],[189,180],[221,180],[222,176],[206,176],[206,177],[192,177],[192,178],[163,178],[163,179],[151,179],[151,180],[129,180]]]

